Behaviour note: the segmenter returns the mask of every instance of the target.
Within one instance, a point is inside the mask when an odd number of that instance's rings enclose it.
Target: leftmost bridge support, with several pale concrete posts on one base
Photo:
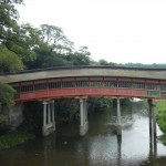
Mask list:
[[[43,102],[43,136],[55,131],[54,101]]]

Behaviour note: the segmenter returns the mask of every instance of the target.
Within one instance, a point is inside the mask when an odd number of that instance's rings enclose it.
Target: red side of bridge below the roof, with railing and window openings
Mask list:
[[[153,80],[136,80],[123,77],[66,77],[29,81],[12,84],[20,101],[44,97],[74,96],[127,96],[127,97],[160,97],[160,90],[166,84]],[[165,91],[163,91],[162,94]]]

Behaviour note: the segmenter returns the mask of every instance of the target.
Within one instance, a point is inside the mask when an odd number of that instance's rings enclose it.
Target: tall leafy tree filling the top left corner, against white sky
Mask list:
[[[27,64],[35,59],[37,30],[30,24],[18,24],[19,12],[14,4],[21,4],[23,0],[4,0],[0,3],[0,44],[21,58]]]

